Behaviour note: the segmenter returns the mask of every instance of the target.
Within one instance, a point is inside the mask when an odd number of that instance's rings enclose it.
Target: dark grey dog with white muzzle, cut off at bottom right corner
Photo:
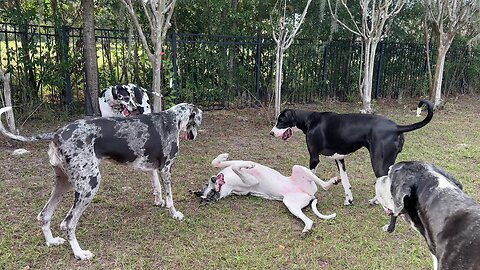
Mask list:
[[[378,202],[392,216],[384,230],[393,232],[400,215],[425,238],[434,269],[480,269],[480,204],[462,189],[431,164],[393,165],[375,184]]]

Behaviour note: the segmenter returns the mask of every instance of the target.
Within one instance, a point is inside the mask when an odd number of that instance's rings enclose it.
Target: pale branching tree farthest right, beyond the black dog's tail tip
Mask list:
[[[452,41],[458,32],[480,17],[479,0],[424,0],[425,16],[438,40],[435,74],[430,89],[430,99],[434,108],[443,105],[442,81],[447,55]]]

